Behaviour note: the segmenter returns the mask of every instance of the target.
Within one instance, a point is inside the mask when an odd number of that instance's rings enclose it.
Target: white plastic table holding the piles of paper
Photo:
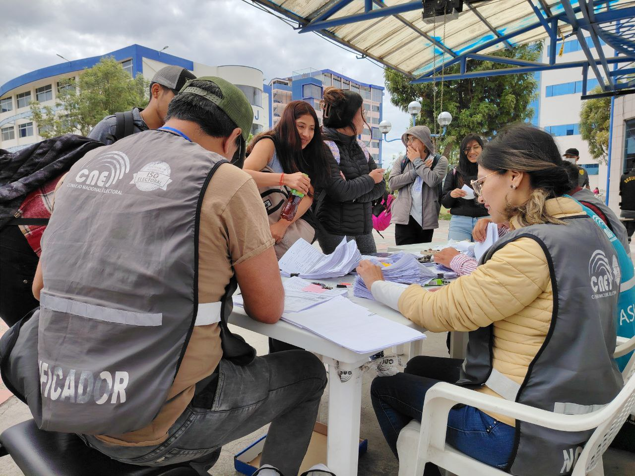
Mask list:
[[[351,282],[354,277],[347,275],[335,279],[319,279],[316,281],[335,287],[338,282]],[[284,280],[284,278],[283,278]],[[417,326],[399,312],[377,301],[356,298],[349,286],[349,299],[371,312],[404,326],[421,332],[425,329]],[[344,319],[345,316],[342,316]],[[361,384],[362,366],[368,362],[371,354],[357,354],[344,347],[328,341],[288,322],[278,321],[276,324],[263,324],[248,317],[243,308],[234,307],[229,322],[235,326],[249,329],[277,340],[305,348],[315,354],[322,355],[324,364],[328,365],[329,399],[328,399],[328,437],[326,465],[338,476],[356,476],[359,457],[359,423],[361,416]],[[389,347],[389,346],[387,346]],[[410,355],[421,355],[423,341],[410,344]]]

